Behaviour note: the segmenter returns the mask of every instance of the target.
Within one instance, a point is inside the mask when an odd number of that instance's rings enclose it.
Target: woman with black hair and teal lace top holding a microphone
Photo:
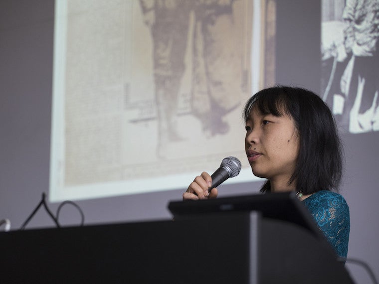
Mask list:
[[[295,191],[337,255],[346,258],[349,207],[337,193],[343,153],[327,105],[311,91],[278,86],[252,96],[244,119],[247,159],[253,174],[267,179],[260,191]],[[216,188],[208,193],[211,182],[210,175],[203,172],[183,199],[215,198]]]

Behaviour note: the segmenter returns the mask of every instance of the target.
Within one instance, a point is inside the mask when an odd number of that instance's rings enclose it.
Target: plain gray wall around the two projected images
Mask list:
[[[280,2],[280,1],[279,1]],[[304,27],[320,16],[320,5],[294,10],[296,3],[279,4],[284,14],[278,32],[277,81],[318,91],[320,85],[319,26]],[[307,1],[308,2],[308,1]],[[300,7],[300,6],[299,6]],[[305,16],[301,16],[302,13]],[[18,229],[41,193],[48,193],[50,115],[52,89],[54,4],[51,0],[0,1],[0,219],[11,220]],[[294,19],[295,18],[295,19]],[[314,21],[317,22],[317,21]],[[290,32],[289,32],[290,31]],[[310,40],[302,40],[314,34]],[[306,71],[306,72],[305,72]],[[346,174],[342,194],[351,214],[349,258],[366,261],[379,276],[377,204],[379,192],[378,133],[344,135]],[[257,192],[259,183],[220,187],[220,195]],[[86,224],[131,220],[167,219],[169,200],[181,199],[184,189],[103,198],[77,202]],[[48,204],[54,212],[57,204]],[[69,205],[61,212],[64,224],[77,224],[80,216]],[[52,221],[40,210],[28,228],[51,227]],[[347,265],[357,283],[370,283],[366,272]]]

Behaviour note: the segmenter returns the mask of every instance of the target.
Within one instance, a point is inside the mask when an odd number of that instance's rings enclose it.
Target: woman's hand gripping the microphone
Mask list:
[[[217,188],[212,188],[208,192],[208,188],[212,185],[212,178],[210,175],[203,171],[201,175],[195,177],[195,179],[189,185],[187,191],[183,193],[183,200],[192,199],[207,199],[217,197]]]

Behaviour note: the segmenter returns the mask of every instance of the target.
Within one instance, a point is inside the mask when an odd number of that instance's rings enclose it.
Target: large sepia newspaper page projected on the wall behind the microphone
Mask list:
[[[225,156],[243,164],[242,106],[273,81],[265,3],[56,1],[52,201],[184,188]]]

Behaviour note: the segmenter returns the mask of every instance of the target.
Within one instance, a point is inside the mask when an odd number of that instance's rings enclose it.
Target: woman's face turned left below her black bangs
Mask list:
[[[299,140],[290,116],[263,115],[253,107],[246,122],[245,149],[254,175],[288,182],[295,170]]]

